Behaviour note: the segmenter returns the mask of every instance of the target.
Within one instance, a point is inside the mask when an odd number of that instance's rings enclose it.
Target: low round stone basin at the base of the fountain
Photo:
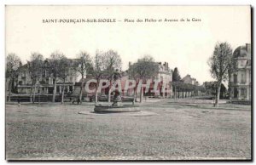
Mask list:
[[[97,113],[118,113],[140,111],[139,105],[95,105],[94,111]]]

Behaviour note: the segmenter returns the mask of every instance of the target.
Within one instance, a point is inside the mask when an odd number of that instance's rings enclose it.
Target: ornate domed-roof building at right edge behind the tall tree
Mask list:
[[[230,77],[230,99],[251,100],[251,44],[236,48],[233,56],[237,71]]]

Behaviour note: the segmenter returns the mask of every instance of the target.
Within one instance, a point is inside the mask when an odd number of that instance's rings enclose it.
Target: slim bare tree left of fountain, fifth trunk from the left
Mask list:
[[[90,58],[90,54],[87,52],[81,51],[78,55],[78,60],[74,64],[74,71],[78,71],[81,74],[81,86],[80,86],[80,93],[79,93],[79,100],[82,103],[82,94],[84,91],[84,76],[91,73],[92,68],[92,60]]]

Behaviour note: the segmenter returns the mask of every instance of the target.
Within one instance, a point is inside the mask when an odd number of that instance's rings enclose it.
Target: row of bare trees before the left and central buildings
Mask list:
[[[31,102],[33,102],[35,100],[36,91],[38,91],[38,87],[42,82],[42,75],[44,75],[44,72],[47,70],[47,76],[53,79],[54,89],[52,101],[55,102],[56,84],[62,83],[61,103],[63,103],[65,83],[67,83],[66,80],[68,76],[73,76],[79,73],[82,77],[79,92],[79,100],[82,100],[85,75],[90,75],[96,79],[96,91],[98,90],[100,80],[102,78],[108,78],[108,81],[110,82],[110,89],[114,83],[113,81],[115,80],[115,77],[113,77],[114,73],[118,70],[121,71],[122,60],[120,55],[113,50],[108,50],[107,52],[96,50],[94,58],[92,58],[87,52],[80,51],[75,60],[69,60],[65,54],[62,54],[60,51],[55,51],[50,54],[49,59],[44,59],[42,54],[32,53],[30,60],[27,61],[27,65],[23,66],[20,58],[16,54],[8,54],[6,65],[6,83],[8,83],[7,87],[9,87],[8,100],[10,100],[11,88],[17,80],[20,71],[25,69],[31,79],[30,98]],[[136,63],[131,65],[128,73],[130,77],[134,78],[136,81],[139,79],[146,80],[147,78],[151,78],[156,75],[157,67],[155,66],[154,59],[150,55],[145,55],[142,59],[137,60]],[[142,90],[143,89],[141,89],[140,93],[140,101],[143,101]],[[134,91],[134,98],[136,98],[137,86],[134,88]],[[108,90],[108,92],[108,102],[110,102],[111,90]],[[98,102],[97,96],[98,93],[96,92],[96,103]]]

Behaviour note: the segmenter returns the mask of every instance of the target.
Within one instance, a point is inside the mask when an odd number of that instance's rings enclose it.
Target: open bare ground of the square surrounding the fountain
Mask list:
[[[93,108],[7,104],[6,158],[251,159],[250,105],[223,103],[217,109],[206,100],[148,100],[140,115],[96,114]]]

